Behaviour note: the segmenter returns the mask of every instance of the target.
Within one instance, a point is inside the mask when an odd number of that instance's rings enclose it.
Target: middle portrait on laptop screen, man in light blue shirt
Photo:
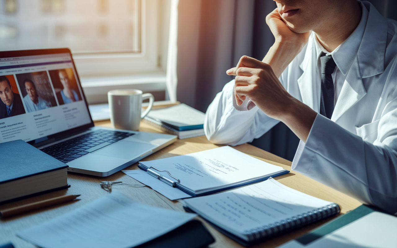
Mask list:
[[[27,112],[57,106],[46,71],[17,74],[16,77]]]

